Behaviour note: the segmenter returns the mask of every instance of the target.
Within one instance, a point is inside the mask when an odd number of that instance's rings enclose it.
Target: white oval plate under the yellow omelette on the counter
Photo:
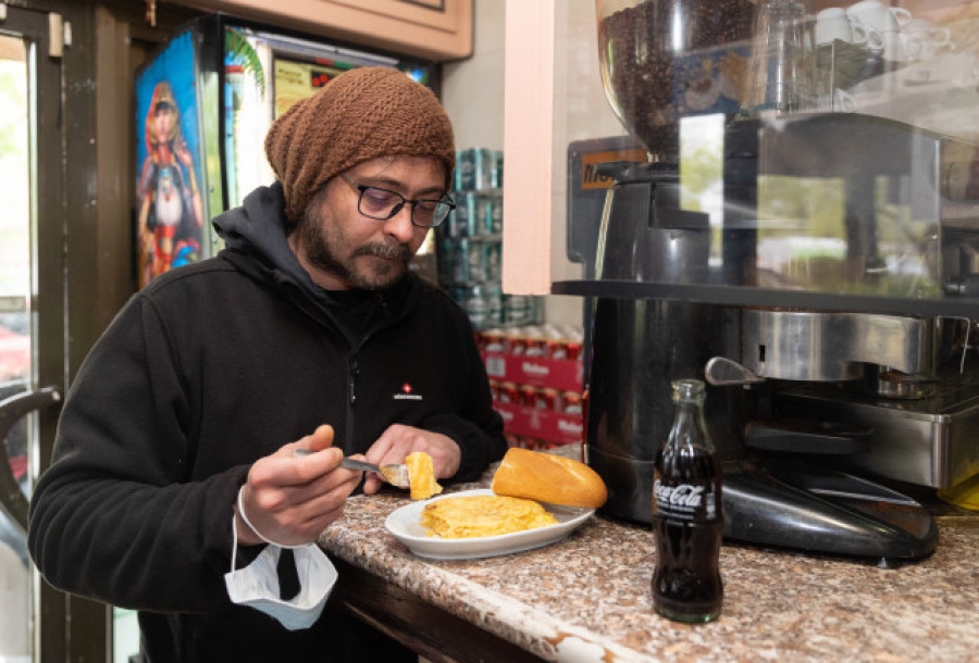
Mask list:
[[[423,502],[412,502],[387,516],[384,525],[396,539],[419,556],[432,560],[471,560],[474,558],[510,554],[511,552],[520,552],[554,543],[567,537],[575,527],[595,513],[594,509],[544,504],[544,508],[557,518],[557,525],[475,539],[443,539],[436,536],[429,536],[429,530],[419,524],[421,512],[425,504],[449,497],[467,495],[493,495],[493,491],[490,489],[463,490]]]

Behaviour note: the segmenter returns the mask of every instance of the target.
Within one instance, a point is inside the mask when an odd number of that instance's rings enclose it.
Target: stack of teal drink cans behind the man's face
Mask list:
[[[503,152],[469,148],[456,154],[456,209],[437,228],[438,279],[469,313],[476,330],[543,322],[538,297],[508,296],[503,267]]]

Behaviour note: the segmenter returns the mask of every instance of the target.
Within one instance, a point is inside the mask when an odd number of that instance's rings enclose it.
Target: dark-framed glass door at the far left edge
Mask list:
[[[27,503],[66,384],[61,17],[0,4],[0,662],[106,660],[104,606],[46,585]],[[53,42],[52,42],[53,40]],[[87,631],[87,633],[86,633]]]

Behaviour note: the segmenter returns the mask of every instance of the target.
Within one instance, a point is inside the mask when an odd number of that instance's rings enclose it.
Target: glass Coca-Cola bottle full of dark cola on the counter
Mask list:
[[[721,470],[704,426],[704,383],[672,385],[673,423],[653,484],[653,605],[670,620],[699,624],[715,620],[723,600]]]

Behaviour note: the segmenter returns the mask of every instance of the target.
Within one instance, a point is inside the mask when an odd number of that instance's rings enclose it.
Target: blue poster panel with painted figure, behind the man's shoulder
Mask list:
[[[136,250],[139,287],[200,260],[199,93],[190,32],[173,38],[136,77]]]

